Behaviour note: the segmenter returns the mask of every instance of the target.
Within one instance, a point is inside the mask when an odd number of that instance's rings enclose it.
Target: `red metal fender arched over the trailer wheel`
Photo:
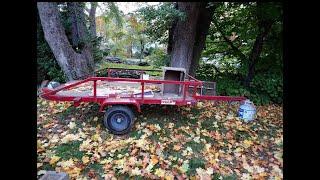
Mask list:
[[[141,108],[140,108],[140,104],[134,100],[134,99],[116,99],[116,98],[108,98],[108,99],[105,99],[101,105],[100,105],[100,109],[99,111],[100,112],[103,112],[105,107],[106,106],[109,106],[109,105],[132,105],[136,108],[136,110],[140,113],[141,112]]]

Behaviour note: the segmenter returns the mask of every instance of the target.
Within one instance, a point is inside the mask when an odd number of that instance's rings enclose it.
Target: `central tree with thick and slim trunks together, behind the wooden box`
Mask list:
[[[185,19],[177,19],[169,33],[168,47],[172,48],[171,66],[183,67],[191,75],[199,64],[201,52],[212,20],[215,6],[207,2],[178,2]],[[171,44],[172,43],[172,44]]]

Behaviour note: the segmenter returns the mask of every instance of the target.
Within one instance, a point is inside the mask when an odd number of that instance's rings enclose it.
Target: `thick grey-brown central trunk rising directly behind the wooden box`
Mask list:
[[[185,68],[189,73],[196,26],[200,10],[199,2],[178,2],[178,9],[186,14],[185,21],[178,20],[173,30],[171,66]]]

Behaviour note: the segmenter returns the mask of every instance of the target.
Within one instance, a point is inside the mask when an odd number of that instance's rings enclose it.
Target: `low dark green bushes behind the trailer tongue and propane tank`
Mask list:
[[[256,74],[250,87],[242,84],[242,76],[222,72],[217,74],[213,65],[203,64],[196,71],[196,78],[217,82],[217,94],[224,96],[245,96],[257,105],[281,104],[283,101],[282,74],[264,72]]]

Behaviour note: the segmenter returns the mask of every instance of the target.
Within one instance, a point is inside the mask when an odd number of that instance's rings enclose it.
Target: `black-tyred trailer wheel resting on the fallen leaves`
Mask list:
[[[112,106],[104,115],[104,125],[117,135],[128,133],[134,124],[134,114],[127,106]]]

